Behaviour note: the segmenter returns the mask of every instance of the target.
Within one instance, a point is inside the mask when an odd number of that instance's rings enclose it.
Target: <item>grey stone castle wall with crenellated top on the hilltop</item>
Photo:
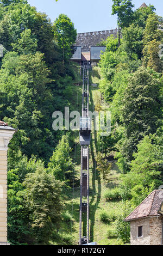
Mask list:
[[[117,37],[118,30],[111,29],[108,31],[96,31],[96,32],[87,32],[87,33],[79,33],[77,35],[76,44],[78,46],[83,46],[82,51],[87,52],[90,51],[90,46],[96,46],[102,40],[105,40],[110,35],[114,35]]]

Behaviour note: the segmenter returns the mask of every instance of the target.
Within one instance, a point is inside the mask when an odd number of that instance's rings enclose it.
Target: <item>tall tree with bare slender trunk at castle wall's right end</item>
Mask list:
[[[133,21],[133,7],[131,0],[112,0],[112,15],[117,14],[118,24],[118,45],[121,44],[121,29],[128,27]]]

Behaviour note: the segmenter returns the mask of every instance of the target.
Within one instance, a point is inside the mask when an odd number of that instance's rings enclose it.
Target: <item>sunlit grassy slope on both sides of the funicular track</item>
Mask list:
[[[92,81],[90,83],[97,83],[100,79],[98,74],[98,67],[94,67],[92,71]],[[79,87],[74,86],[74,97],[73,104],[78,105],[78,111],[82,109],[82,85]],[[98,87],[90,86],[90,110],[93,111],[94,106],[99,102],[98,99],[101,98]],[[80,145],[79,145],[79,133],[74,132],[74,137],[76,135],[76,157],[73,159],[76,162],[76,177],[80,178]],[[96,133],[92,132],[92,139],[90,145],[90,241],[96,241],[98,245],[116,245],[116,239],[108,239],[107,231],[109,229],[114,229],[113,224],[105,224],[100,221],[99,214],[102,210],[109,212],[121,212],[122,202],[106,202],[104,199],[105,190],[108,187],[118,185],[120,182],[116,164],[112,167],[109,179],[111,182],[104,182],[102,175],[96,170],[95,157],[96,157]],[[78,184],[78,185],[77,185]],[[60,236],[55,239],[53,244],[64,245],[64,244],[78,244],[79,240],[79,198],[80,188],[79,182],[75,183],[74,192],[70,194],[70,198],[66,201],[66,209],[72,214],[73,221],[69,224],[62,222],[61,228],[59,230]],[[73,199],[72,199],[73,198]],[[70,236],[73,235],[73,241],[62,240],[62,237],[66,234]],[[86,213],[83,213],[83,235],[86,235]]]

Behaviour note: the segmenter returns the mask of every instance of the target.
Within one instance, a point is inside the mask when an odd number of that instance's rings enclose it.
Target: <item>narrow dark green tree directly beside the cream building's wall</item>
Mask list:
[[[17,169],[8,171],[8,240],[12,245],[27,243],[32,236],[29,229],[28,210],[24,205],[24,187]]]

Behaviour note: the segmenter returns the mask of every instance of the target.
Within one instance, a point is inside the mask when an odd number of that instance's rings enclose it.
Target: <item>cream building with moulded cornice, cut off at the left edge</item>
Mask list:
[[[15,129],[0,121],[0,245],[7,242],[7,151]]]

